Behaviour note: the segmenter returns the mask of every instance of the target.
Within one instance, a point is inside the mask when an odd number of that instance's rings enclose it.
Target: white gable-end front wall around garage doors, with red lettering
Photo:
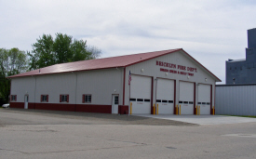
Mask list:
[[[163,61],[163,62],[168,62],[168,63],[173,63],[176,64],[176,69],[173,68],[168,68],[164,66],[159,66],[156,65],[156,60],[158,61]],[[186,67],[194,67],[197,69],[197,73],[195,72],[189,72],[189,71],[182,71],[178,69],[178,65],[186,66]],[[188,79],[188,75],[182,75],[178,73],[168,73],[166,75],[165,72],[160,72],[160,68],[163,69],[168,69],[168,70],[175,70],[175,71],[180,71],[180,72],[185,72],[185,73],[194,73],[194,76],[190,76]],[[143,69],[143,73],[141,72],[141,69]],[[146,60],[131,66],[128,66],[126,68],[126,99],[125,99],[125,105],[129,105],[129,88],[128,88],[128,73],[131,74],[140,74],[140,75],[146,75],[146,76],[152,76],[154,79],[156,77],[160,78],[167,78],[167,79],[174,79],[176,80],[176,103],[175,105],[178,104],[179,102],[179,87],[180,87],[180,81],[186,81],[186,82],[194,82],[195,85],[195,103],[197,103],[197,95],[198,95],[198,86],[197,84],[207,84],[207,85],[212,85],[212,105],[214,106],[214,87],[215,87],[215,80],[209,72],[207,72],[204,69],[201,69],[201,66],[195,62],[194,60],[190,59],[183,53],[183,51],[178,51],[175,53],[171,53],[165,56],[161,56],[152,60]],[[132,77],[131,77],[132,78]],[[205,81],[205,79],[208,79]],[[155,103],[155,89],[156,89],[156,80],[154,80],[154,87],[153,87],[153,103]],[[195,104],[196,105],[196,104]]]

